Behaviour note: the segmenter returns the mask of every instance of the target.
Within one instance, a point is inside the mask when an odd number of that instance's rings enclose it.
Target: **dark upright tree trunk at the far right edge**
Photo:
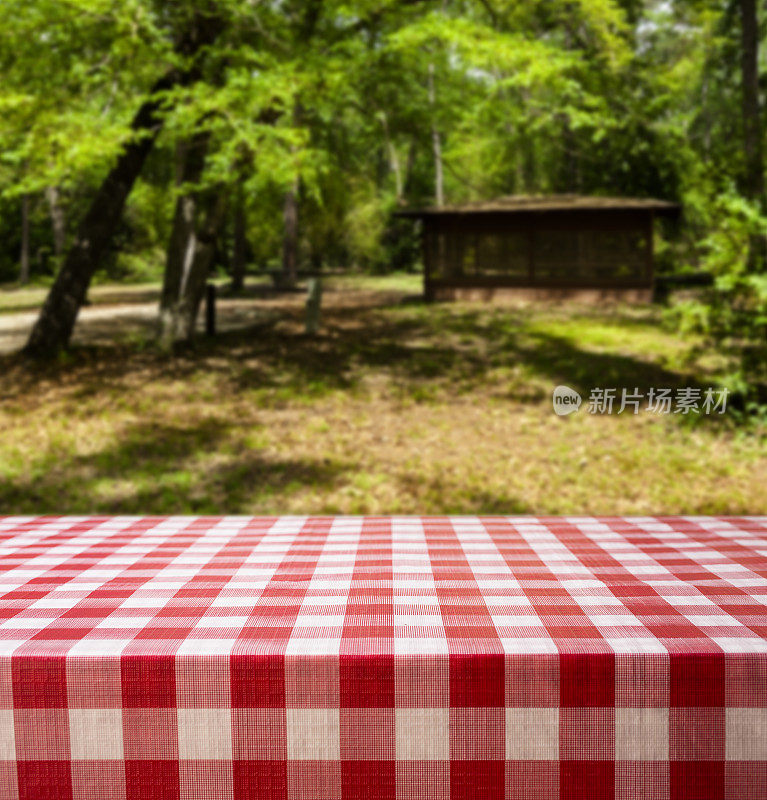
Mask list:
[[[756,0],[740,0],[741,83],[743,92],[743,149],[746,162],[744,186],[748,198],[767,210],[764,193],[764,157],[759,103],[759,24]],[[761,271],[767,261],[765,237],[751,237],[748,266]]]

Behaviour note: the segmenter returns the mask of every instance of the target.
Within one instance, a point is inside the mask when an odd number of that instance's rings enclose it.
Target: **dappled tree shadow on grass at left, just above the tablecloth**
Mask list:
[[[270,458],[240,443],[231,427],[138,424],[88,455],[48,454],[25,476],[0,480],[4,513],[247,513],[272,495],[331,487],[346,467],[327,459]],[[236,437],[235,437],[236,443]],[[208,459],[214,453],[216,458]]]

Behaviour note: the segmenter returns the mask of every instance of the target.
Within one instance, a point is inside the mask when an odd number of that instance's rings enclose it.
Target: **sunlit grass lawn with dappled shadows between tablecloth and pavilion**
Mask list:
[[[558,383],[705,387],[723,365],[651,308],[426,305],[335,279],[322,335],[163,358],[0,360],[0,513],[765,514],[767,433],[728,415],[559,418]],[[259,301],[254,301],[259,302]]]

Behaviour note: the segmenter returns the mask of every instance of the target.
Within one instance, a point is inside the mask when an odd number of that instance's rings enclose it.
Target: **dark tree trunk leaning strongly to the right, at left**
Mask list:
[[[180,55],[193,56],[203,45],[211,44],[220,29],[217,19],[200,14],[179,38],[175,50]],[[125,147],[96,192],[32,328],[25,354],[50,357],[69,344],[93,273],[107,252],[125,201],[162,127],[159,111],[164,100],[157,94],[189,83],[196,76],[196,67],[189,71],[170,70],[154,84],[151,98],[139,108],[131,130],[140,135]]]

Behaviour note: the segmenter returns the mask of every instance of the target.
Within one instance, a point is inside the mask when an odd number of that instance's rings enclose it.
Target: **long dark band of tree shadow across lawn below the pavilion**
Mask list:
[[[664,367],[654,360],[657,356],[589,350],[572,338],[531,327],[536,317],[530,309],[362,303],[326,310],[324,332],[317,337],[300,332],[300,314],[286,311],[287,327],[255,326],[202,338],[175,358],[127,345],[80,348],[68,363],[44,367],[6,358],[12,376],[0,392],[18,399],[31,393],[41,377],[59,387],[71,383],[75,397],[110,387],[119,391],[126,380],[140,392],[144,382],[185,380],[200,372],[216,375],[222,391],[274,389],[286,403],[354,390],[373,373],[388,374],[416,399],[487,390],[490,373],[498,370],[518,374],[505,386],[496,375],[491,393],[517,402],[539,403],[557,383],[585,396],[595,387],[646,393],[650,388],[707,386],[698,376]],[[590,318],[599,319],[599,312]],[[623,324],[613,311],[604,320]],[[633,328],[637,323],[628,319],[627,324]],[[425,387],[439,391],[429,395]]]

